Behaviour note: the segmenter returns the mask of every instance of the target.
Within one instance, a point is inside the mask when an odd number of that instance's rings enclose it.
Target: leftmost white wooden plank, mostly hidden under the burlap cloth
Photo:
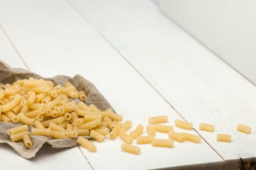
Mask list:
[[[1,60],[6,62],[10,67],[27,69],[1,28],[0,47]],[[72,164],[68,162],[72,162]],[[8,170],[27,168],[39,170],[56,170],[60,168],[92,169],[78,147],[70,149],[54,149],[49,145],[43,146],[35,158],[26,160],[20,157],[9,145],[0,144],[0,165],[1,169]]]

